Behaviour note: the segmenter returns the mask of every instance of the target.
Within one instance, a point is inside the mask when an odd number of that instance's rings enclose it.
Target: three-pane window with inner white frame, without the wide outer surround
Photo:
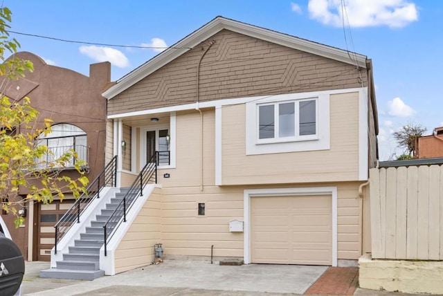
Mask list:
[[[257,143],[315,139],[317,105],[316,98],[257,104]]]

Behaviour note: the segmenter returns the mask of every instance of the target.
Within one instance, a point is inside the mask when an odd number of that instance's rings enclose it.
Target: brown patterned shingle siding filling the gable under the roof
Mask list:
[[[201,101],[361,87],[360,77],[367,83],[366,71],[350,64],[228,30],[212,39],[201,60]],[[206,46],[195,46],[109,100],[108,114],[195,102],[197,64]]]

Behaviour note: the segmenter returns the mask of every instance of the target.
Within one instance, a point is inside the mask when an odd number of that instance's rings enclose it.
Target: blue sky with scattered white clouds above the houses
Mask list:
[[[404,125],[421,124],[426,135],[443,126],[440,0],[3,0],[3,6],[12,10],[11,36],[20,50],[84,75],[89,64],[109,61],[112,80],[219,15],[366,55],[374,68],[380,160],[403,153],[392,133]]]

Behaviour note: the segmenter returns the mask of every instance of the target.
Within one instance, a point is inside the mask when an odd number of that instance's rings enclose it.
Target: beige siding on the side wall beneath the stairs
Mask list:
[[[115,252],[116,273],[154,261],[154,244],[161,240],[161,193],[154,189]]]

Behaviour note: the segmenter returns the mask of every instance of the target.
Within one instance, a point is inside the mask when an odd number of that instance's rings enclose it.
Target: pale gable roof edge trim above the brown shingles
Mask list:
[[[332,46],[319,44],[314,41],[278,33],[266,28],[252,26],[250,24],[234,21],[233,19],[216,17],[208,24],[202,26],[195,32],[178,41],[173,46],[170,46],[170,48],[164,50],[159,55],[156,55],[149,61],[145,62],[145,64],[142,64],[138,68],[134,69],[134,71],[120,78],[120,80],[118,80],[114,86],[111,86],[109,89],[107,89],[107,91],[102,93],[102,95],[108,100],[114,98],[122,91],[125,91],[125,89],[128,89],[130,86],[136,84],[140,80],[143,80],[143,78],[147,77],[165,64],[168,64],[180,55],[183,55],[183,53],[186,53],[188,50],[201,44],[201,42],[224,29],[249,37],[269,41],[274,44],[280,44],[289,48],[312,53],[314,55],[327,57],[328,59],[335,59],[339,62],[352,65],[357,64],[361,68],[366,68],[367,57],[365,55],[350,53],[347,50],[342,50]]]

